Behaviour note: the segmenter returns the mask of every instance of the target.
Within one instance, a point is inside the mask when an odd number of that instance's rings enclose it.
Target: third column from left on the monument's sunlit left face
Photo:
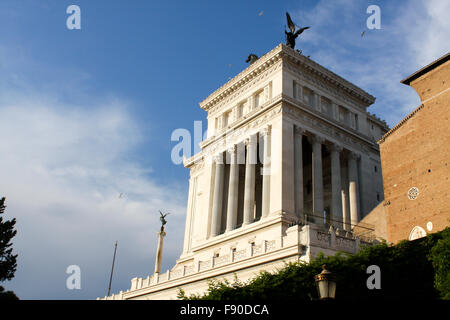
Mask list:
[[[255,169],[256,169],[256,135],[251,135],[245,141],[247,158],[245,164],[245,191],[244,191],[244,221],[247,225],[254,221],[255,211]]]

